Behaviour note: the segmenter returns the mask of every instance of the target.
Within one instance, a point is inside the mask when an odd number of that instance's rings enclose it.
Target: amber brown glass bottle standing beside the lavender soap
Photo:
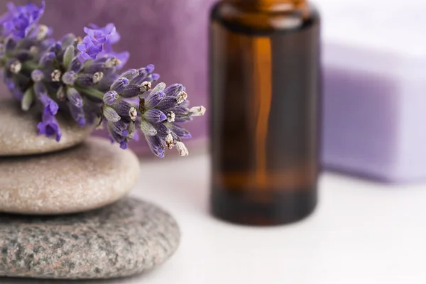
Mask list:
[[[210,18],[211,207],[273,225],[317,203],[320,18],[304,0],[224,0]]]

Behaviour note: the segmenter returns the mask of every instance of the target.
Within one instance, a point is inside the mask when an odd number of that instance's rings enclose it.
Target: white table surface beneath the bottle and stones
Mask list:
[[[426,184],[390,186],[324,173],[315,213],[272,228],[226,224],[209,215],[205,154],[143,161],[131,194],[175,216],[180,248],[149,273],[81,283],[426,283]]]

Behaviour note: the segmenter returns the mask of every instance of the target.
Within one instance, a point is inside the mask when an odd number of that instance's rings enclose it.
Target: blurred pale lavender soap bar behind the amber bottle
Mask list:
[[[426,179],[426,60],[325,46],[325,167],[387,182]]]

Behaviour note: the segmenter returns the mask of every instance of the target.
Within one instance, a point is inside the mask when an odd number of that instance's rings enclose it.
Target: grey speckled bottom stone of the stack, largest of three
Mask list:
[[[0,275],[60,279],[133,275],[167,260],[179,239],[173,217],[130,197],[80,214],[0,214]]]

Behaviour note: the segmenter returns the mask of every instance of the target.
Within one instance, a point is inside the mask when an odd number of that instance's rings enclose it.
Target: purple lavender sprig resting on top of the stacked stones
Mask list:
[[[84,38],[69,33],[59,41],[39,22],[45,4],[13,6],[0,16],[0,68],[11,94],[23,111],[41,107],[38,133],[60,141],[56,115],[68,111],[80,126],[107,126],[111,141],[126,149],[143,133],[160,158],[165,149],[188,155],[182,139],[190,133],[181,123],[204,115],[204,107],[189,107],[182,84],[156,84],[154,65],[119,72],[129,53],[117,53],[120,39],[113,23],[85,27]]]

